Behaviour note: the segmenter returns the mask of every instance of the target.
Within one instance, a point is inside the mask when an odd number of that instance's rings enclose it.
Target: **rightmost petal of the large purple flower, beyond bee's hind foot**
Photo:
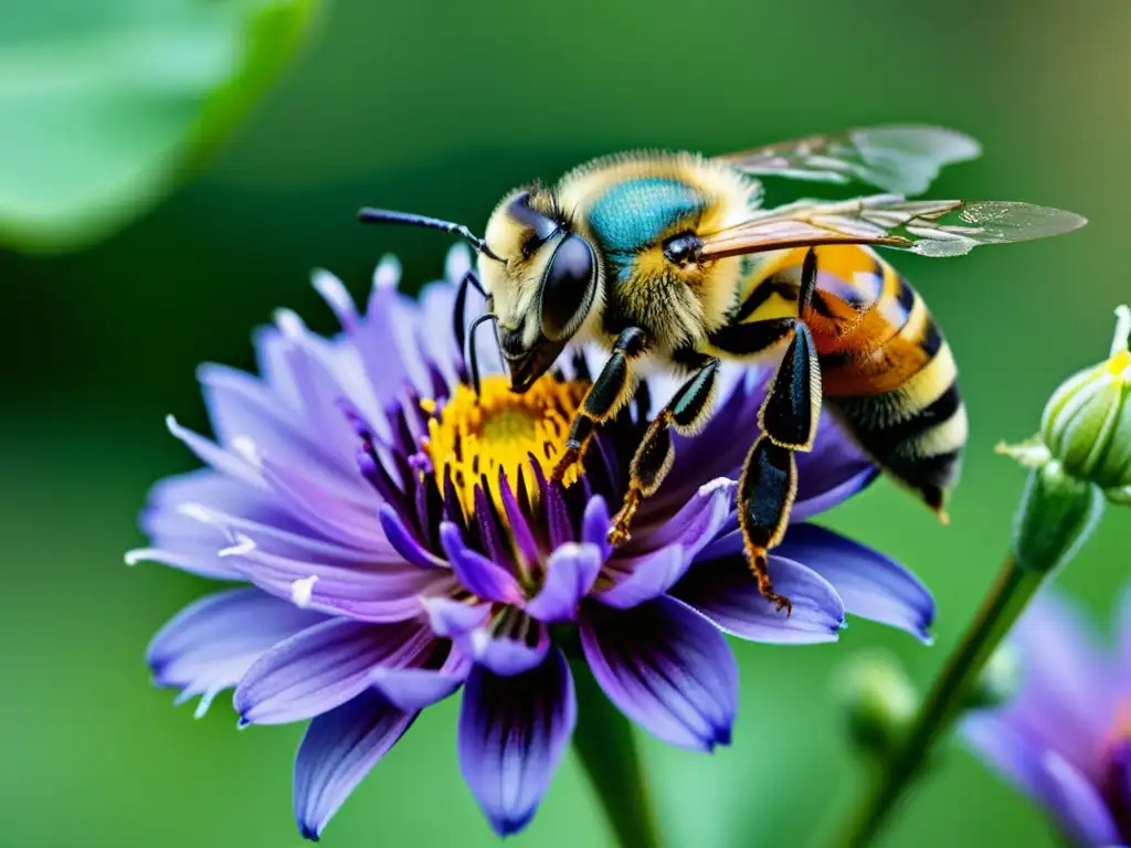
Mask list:
[[[775,553],[808,565],[832,583],[849,614],[931,641],[934,598],[895,560],[815,525],[791,527]]]

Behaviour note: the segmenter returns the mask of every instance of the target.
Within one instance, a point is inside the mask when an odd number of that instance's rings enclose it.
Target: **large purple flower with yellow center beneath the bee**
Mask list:
[[[128,555],[244,585],[174,617],[149,664],[182,700],[201,695],[198,712],[234,686],[243,724],[310,721],[294,778],[310,838],[420,710],[461,685],[464,776],[499,833],[523,828],[576,720],[563,646],[641,727],[710,751],[737,707],[723,632],[826,642],[847,611],[925,640],[933,616],[900,565],[809,523],[770,557],[793,615],[759,597],[733,493],[766,374],[737,366],[718,414],[677,439],[667,482],[613,550],[629,459],[674,384],[641,383],[584,470],[547,483],[599,360],[567,355],[525,395],[489,375],[476,401],[452,331],[467,262],[452,251],[448,282],[416,302],[382,261],[364,315],[319,271],[339,337],[282,312],[256,337],[261,377],[204,366],[215,441],[170,430],[208,467],[155,486],[141,516],[150,546]],[[798,466],[798,522],[875,476],[829,423]]]

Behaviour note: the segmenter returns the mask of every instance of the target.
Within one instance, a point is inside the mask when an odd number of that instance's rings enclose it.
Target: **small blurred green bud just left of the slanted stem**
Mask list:
[[[845,669],[838,694],[848,738],[877,760],[895,749],[920,701],[903,667],[884,655],[855,657]]]

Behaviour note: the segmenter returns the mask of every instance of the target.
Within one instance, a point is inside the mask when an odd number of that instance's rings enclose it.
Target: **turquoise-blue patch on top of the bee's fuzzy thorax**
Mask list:
[[[594,235],[623,277],[631,257],[654,243],[681,218],[701,211],[706,200],[687,183],[646,176],[616,183],[589,209]]]

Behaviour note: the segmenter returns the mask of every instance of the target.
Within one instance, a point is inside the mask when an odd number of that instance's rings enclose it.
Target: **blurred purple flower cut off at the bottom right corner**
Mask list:
[[[1116,650],[1105,651],[1089,622],[1046,592],[1010,638],[1024,675],[1017,694],[962,726],[1080,846],[1131,845],[1131,594],[1116,624]]]

